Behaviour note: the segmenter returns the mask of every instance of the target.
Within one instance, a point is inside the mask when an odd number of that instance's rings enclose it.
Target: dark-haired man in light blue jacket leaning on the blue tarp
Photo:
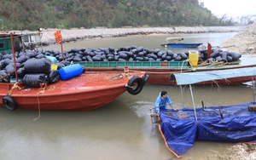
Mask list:
[[[170,105],[172,110],[177,111],[177,109],[173,108],[172,100],[168,96],[167,92],[161,91],[154,103],[154,113],[158,113],[160,109],[167,109],[167,105]]]

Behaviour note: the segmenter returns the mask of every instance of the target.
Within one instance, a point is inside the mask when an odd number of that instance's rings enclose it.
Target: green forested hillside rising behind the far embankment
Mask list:
[[[9,0],[0,7],[2,30],[106,26],[233,26],[198,0]]]

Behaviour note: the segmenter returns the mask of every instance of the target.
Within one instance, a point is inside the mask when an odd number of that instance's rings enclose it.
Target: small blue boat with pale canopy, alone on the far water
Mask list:
[[[162,43],[161,46],[166,48],[197,48],[202,43],[183,43],[183,37],[167,37],[166,43]]]

